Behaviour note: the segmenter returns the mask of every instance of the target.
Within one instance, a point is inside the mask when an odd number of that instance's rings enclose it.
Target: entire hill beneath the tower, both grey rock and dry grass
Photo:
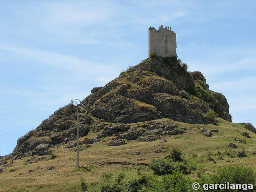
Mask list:
[[[187,72],[173,57],[148,58],[129,67],[104,87],[93,88],[82,103],[80,165],[86,167],[74,168],[77,108],[70,103],[20,137],[12,154],[0,159],[0,181],[5,186],[12,186],[13,191],[19,191],[18,185],[22,190],[51,191],[55,186],[65,191],[65,185],[67,191],[76,191],[77,175],[89,173],[87,179],[94,185],[106,172],[132,169],[128,174],[134,174],[135,165],[147,165],[153,157],[166,156],[171,146],[180,147],[186,159],[202,163],[205,172],[225,164],[253,162],[255,158],[250,153],[256,151],[255,128],[232,123],[226,98],[209,90],[201,72]],[[218,115],[215,122],[206,115],[210,109]],[[243,133],[246,131],[249,138]],[[160,139],[167,142],[159,144]],[[247,157],[241,161],[229,143],[246,148]],[[223,158],[212,164],[207,159],[208,150],[213,151],[215,160],[220,155],[216,150]],[[55,159],[49,156],[52,151]],[[54,165],[54,169],[46,169],[47,165]],[[145,172],[152,173],[148,167]],[[19,180],[19,184],[13,180]]]

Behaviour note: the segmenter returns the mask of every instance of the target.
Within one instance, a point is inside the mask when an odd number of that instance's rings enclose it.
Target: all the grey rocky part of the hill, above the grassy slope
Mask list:
[[[100,132],[95,138],[86,138],[82,144],[89,145],[111,135],[116,138],[108,145],[116,146],[125,144],[123,138],[150,141],[156,140],[152,134],[182,134],[183,130],[176,124],[147,122],[137,127],[129,124],[163,117],[207,124],[210,119],[206,113],[210,108],[219,117],[231,121],[226,98],[209,90],[201,72],[186,71],[175,57],[147,58],[91,92],[79,108],[79,136],[86,136],[90,131]],[[76,110],[70,103],[55,111],[35,130],[20,137],[13,153],[7,157],[15,160],[45,155],[49,154],[50,147],[60,144],[74,147],[71,141],[76,140]]]

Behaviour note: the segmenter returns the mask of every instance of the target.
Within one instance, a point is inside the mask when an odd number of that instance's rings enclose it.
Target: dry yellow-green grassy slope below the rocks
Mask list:
[[[11,166],[6,166],[0,173],[0,191],[77,192],[82,191],[81,177],[88,184],[88,191],[94,191],[101,176],[106,173],[124,172],[127,177],[137,177],[136,167],[142,165],[144,167],[141,170],[142,173],[153,175],[148,164],[153,158],[167,156],[173,146],[179,147],[185,161],[195,162],[200,167],[200,170],[192,170],[191,174],[185,175],[185,177],[191,177],[190,179],[196,179],[198,174],[210,173],[225,165],[256,163],[255,155],[251,153],[256,151],[256,134],[245,129],[242,124],[231,123],[221,118],[218,118],[217,124],[207,125],[181,123],[167,118],[152,120],[152,122],[174,123],[180,128],[185,127],[186,130],[184,129],[185,133],[178,135],[152,134],[157,140],[151,142],[124,139],[126,144],[123,146],[108,146],[106,143],[115,137],[111,136],[91,144],[90,148],[81,145],[83,150],[79,152],[80,168],[75,167],[76,147],[64,148],[66,145],[50,149],[56,154],[54,159],[50,156],[30,156],[14,160]],[[145,123],[130,125],[132,127]],[[217,129],[219,132],[212,132],[211,137],[206,137],[200,131],[202,128]],[[251,138],[244,137],[243,132],[249,132]],[[95,136],[97,133],[90,132],[79,140]],[[238,142],[234,138],[243,139],[244,142]],[[167,142],[159,143],[159,139],[165,139]],[[236,144],[237,148],[228,147],[228,143]],[[236,156],[241,148],[245,148],[246,157]],[[136,155],[135,152],[140,154]],[[49,165],[53,165],[54,169],[48,170]],[[251,167],[256,170],[256,164]]]

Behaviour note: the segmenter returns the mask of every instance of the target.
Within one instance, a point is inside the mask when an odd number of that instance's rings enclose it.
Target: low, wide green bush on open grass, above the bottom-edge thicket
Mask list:
[[[172,174],[174,170],[189,173],[188,164],[186,162],[173,162],[170,157],[159,158],[157,160],[153,159],[149,164],[149,168],[158,175]]]

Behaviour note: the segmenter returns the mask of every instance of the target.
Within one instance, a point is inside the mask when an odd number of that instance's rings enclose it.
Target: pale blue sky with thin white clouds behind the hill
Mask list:
[[[71,99],[148,57],[148,27],[177,34],[177,55],[256,125],[256,1],[0,0],[0,154]]]

